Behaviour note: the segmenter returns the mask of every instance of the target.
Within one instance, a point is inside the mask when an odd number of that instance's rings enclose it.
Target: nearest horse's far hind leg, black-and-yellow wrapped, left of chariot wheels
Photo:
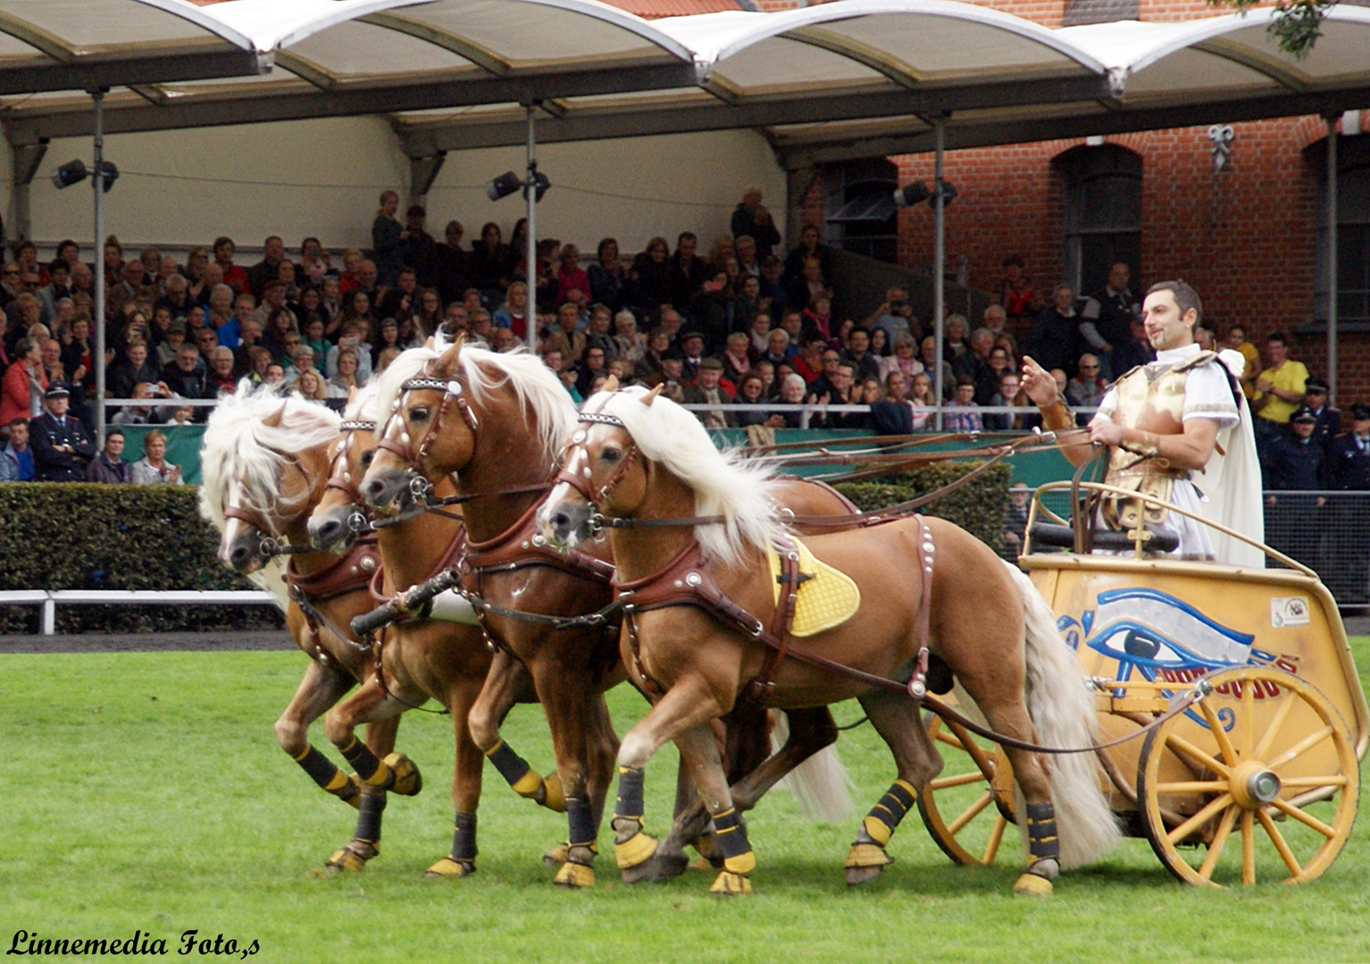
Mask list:
[[[923,727],[918,702],[903,693],[880,690],[860,698],[875,733],[889,746],[899,776],[856,828],[847,852],[847,883],[866,883],[880,876],[895,859],[885,852],[899,822],[912,809],[927,782],[941,772],[943,761]]]

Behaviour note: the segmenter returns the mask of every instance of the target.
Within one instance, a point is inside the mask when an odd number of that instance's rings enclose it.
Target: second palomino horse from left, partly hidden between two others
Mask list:
[[[340,550],[355,529],[355,513],[362,504],[356,482],[366,474],[375,455],[375,385],[353,393],[342,419],[342,435],[330,448],[332,477],[327,492],[310,518],[310,535],[316,549]],[[434,494],[455,494],[451,478],[434,486]],[[392,520],[396,522],[396,520]],[[425,513],[397,520],[377,531],[381,549],[381,574],[373,582],[373,598],[382,601],[451,568],[466,548],[466,533],[452,513]],[[452,715],[456,738],[456,765],[452,772],[452,805],[456,811],[452,850],[432,867],[430,876],[466,876],[475,871],[475,808],[481,798],[481,775],[485,764],[471,739],[467,716],[485,683],[490,653],[481,630],[474,624],[410,619],[381,631],[382,674],[373,675],[353,696],[336,707],[325,720],[334,742],[347,739],[362,722],[373,723],[396,716],[429,698],[441,702]],[[514,701],[527,702],[533,687],[523,672],[512,675],[508,712]],[[334,733],[334,728],[337,730]],[[543,786],[530,775],[525,796],[541,789],[538,802],[551,809],[564,809],[555,781]],[[363,852],[364,856],[364,852]]]

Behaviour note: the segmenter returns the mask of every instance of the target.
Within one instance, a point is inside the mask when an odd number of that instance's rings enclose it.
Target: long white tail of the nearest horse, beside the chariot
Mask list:
[[[1056,631],[1051,607],[1032,579],[1012,563],[1023,600],[1028,715],[1044,746],[1074,748],[1099,742],[1099,712],[1084,686],[1075,655]],[[1111,850],[1122,834],[1108,808],[1093,753],[1051,754],[1051,797],[1060,834],[1060,865],[1080,867]]]

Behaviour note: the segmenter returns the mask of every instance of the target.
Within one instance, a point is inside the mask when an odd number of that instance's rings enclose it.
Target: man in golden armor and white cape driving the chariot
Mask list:
[[[1185,282],[1151,286],[1143,320],[1156,360],[1123,374],[1108,389],[1086,429],[1089,442],[1112,449],[1104,479],[1110,486],[1155,496],[1260,541],[1260,472],[1251,415],[1245,398],[1233,392],[1225,360],[1195,342],[1201,312],[1197,293]],[[1047,429],[1074,427],[1074,414],[1055,379],[1032,359],[1023,359],[1022,388],[1037,403]],[[1092,455],[1085,444],[1067,444],[1063,452],[1077,466]],[[1110,529],[1141,526],[1175,535],[1175,555],[1182,559],[1262,564],[1251,546],[1140,500],[1106,497],[1100,518]]]

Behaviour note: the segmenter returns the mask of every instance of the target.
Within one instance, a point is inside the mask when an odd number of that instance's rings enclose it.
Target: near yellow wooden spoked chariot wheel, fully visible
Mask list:
[[[1204,679],[1212,693],[1141,748],[1137,800],[1151,848],[1199,886],[1312,880],[1355,823],[1360,771],[1345,722],[1281,670]]]

